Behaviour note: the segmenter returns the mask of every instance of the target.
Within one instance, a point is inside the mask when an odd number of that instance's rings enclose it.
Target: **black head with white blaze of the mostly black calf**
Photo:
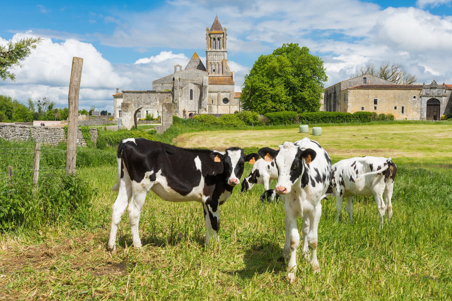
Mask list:
[[[215,160],[220,160],[223,163],[224,172],[227,176],[227,184],[235,186],[240,184],[240,177],[243,174],[245,162],[259,159],[257,153],[250,153],[245,155],[242,148],[228,148],[224,152],[213,151],[210,157]]]

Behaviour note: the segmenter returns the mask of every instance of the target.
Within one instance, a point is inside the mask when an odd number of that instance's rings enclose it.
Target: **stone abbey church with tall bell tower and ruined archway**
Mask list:
[[[185,69],[152,82],[152,90],[125,91],[113,95],[113,116],[131,128],[146,114],[160,116],[164,103],[172,103],[174,115],[228,114],[240,111],[240,93],[234,92],[234,71],[227,65],[227,34],[218,17],[206,28],[206,65],[193,54]]]

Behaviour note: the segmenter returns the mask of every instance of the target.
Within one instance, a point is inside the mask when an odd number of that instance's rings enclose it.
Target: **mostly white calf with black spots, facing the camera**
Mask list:
[[[261,157],[274,157],[278,168],[275,192],[281,194],[284,200],[286,242],[283,252],[285,257],[290,255],[287,278],[292,283],[295,280],[296,254],[300,244],[298,215],[303,216],[301,254],[304,259],[309,259],[308,246],[311,246],[312,271],[320,272],[316,254],[317,227],[322,214],[320,200],[325,196],[330,183],[331,160],[320,144],[307,137],[295,143],[284,142],[279,150],[261,148],[258,153]]]

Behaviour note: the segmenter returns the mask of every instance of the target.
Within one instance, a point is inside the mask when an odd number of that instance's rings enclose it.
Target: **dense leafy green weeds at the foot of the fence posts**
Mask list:
[[[3,183],[0,193],[0,232],[17,227],[36,229],[44,224],[64,222],[71,217],[76,223],[86,224],[91,199],[97,194],[80,177],[43,175],[34,192],[29,179],[13,185]]]

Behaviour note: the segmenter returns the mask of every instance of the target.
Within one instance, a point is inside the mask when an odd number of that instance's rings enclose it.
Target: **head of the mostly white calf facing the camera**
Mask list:
[[[298,145],[292,142],[284,142],[279,146],[279,150],[272,148],[259,149],[260,156],[270,156],[275,158],[278,168],[278,183],[276,184],[276,193],[287,194],[292,190],[292,186],[300,178],[309,164],[315,159],[317,153],[311,148],[302,150]]]

